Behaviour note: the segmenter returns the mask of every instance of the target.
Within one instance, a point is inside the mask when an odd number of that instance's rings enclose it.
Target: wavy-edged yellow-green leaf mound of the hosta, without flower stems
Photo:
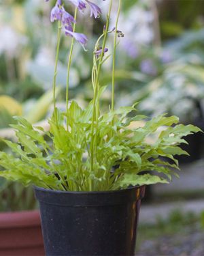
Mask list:
[[[175,155],[188,154],[180,147],[186,143],[182,137],[201,131],[192,125],[179,124],[175,116],[148,119],[144,115],[132,115],[135,106],[99,113],[91,168],[92,111],[92,102],[81,109],[72,101],[67,113],[56,109],[49,121],[49,132],[15,117],[18,124],[12,127],[18,143],[5,140],[14,154],[0,152],[3,169],[0,176],[24,186],[71,191],[119,190],[168,183],[179,169]],[[142,120],[143,126],[131,125]]]

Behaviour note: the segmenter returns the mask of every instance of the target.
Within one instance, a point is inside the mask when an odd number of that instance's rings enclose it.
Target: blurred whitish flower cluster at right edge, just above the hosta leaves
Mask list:
[[[199,117],[197,102],[204,97],[201,83],[193,83],[188,76],[178,72],[165,72],[160,87],[152,91],[140,106],[143,111],[158,115],[177,115],[181,122],[192,122]]]

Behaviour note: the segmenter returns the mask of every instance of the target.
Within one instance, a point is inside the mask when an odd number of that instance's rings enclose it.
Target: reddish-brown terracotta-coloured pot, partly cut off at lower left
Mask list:
[[[38,211],[0,214],[0,255],[45,255]]]

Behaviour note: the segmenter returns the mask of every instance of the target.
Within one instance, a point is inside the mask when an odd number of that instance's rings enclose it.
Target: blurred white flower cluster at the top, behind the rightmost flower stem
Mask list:
[[[103,10],[102,17],[105,20],[109,1],[97,0],[97,3],[100,4]],[[112,7],[114,14],[110,20],[110,28],[115,27],[117,8],[118,1],[114,1]],[[150,44],[154,40],[153,20],[152,12],[143,8],[141,3],[133,5],[127,12],[120,13],[118,29],[124,33],[124,38],[120,40],[120,47],[126,51],[129,57],[133,59],[137,57],[139,46]]]

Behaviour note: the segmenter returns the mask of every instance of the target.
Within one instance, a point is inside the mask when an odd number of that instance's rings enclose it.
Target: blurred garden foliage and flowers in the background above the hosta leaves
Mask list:
[[[94,1],[94,0],[93,0]],[[52,76],[56,24],[49,20],[55,1],[0,0],[0,129],[23,115],[33,124],[52,111]],[[70,98],[85,106],[92,98],[92,51],[101,34],[108,1],[95,0],[103,14],[93,20],[78,16],[78,31],[88,35],[87,52],[75,44]],[[115,1],[117,3],[117,1]],[[71,6],[67,5],[70,10]],[[116,11],[117,5],[114,5]],[[114,27],[114,18],[111,26]],[[148,115],[178,115],[184,124],[203,124],[204,1],[126,0],[120,16],[116,57],[116,106],[139,101],[138,111]],[[112,35],[109,53],[112,53]],[[58,107],[65,108],[65,83],[70,38],[62,38],[58,66]],[[112,81],[111,59],[105,63],[101,85]],[[111,89],[103,95],[107,109]],[[0,137],[1,135],[0,130]],[[3,132],[5,134],[5,132]],[[1,150],[6,150],[1,143]],[[10,186],[10,184],[8,185]],[[5,185],[4,185],[5,187]],[[1,193],[1,191],[0,191]],[[4,198],[5,195],[2,195]]]

